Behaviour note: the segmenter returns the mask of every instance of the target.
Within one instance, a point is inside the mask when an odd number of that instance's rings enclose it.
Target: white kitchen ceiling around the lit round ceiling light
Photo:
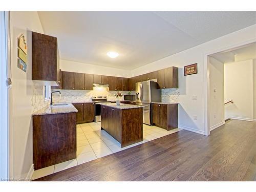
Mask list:
[[[256,24],[256,12],[38,12],[60,58],[132,70]],[[119,57],[106,56],[116,51]]]

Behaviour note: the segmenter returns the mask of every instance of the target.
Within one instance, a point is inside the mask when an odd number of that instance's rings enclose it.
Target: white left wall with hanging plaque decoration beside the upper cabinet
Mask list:
[[[35,89],[37,86],[31,80],[31,32],[29,30],[39,33],[44,33],[44,31],[37,12],[11,12],[10,25],[12,74],[12,88],[10,90],[10,177],[26,178],[29,173],[31,174],[33,168],[31,114],[36,103],[39,102],[41,106],[48,104],[42,102],[42,91],[37,92]],[[17,68],[17,37],[20,33],[23,33],[27,39],[29,58],[27,73]]]

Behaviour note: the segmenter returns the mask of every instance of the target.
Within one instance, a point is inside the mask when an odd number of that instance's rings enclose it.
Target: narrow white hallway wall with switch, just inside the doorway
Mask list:
[[[225,122],[224,119],[224,63],[209,58],[210,70],[210,130]],[[216,91],[216,92],[215,92]]]

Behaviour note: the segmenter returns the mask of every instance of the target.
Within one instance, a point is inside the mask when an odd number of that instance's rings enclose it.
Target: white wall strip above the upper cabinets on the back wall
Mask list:
[[[60,60],[59,63],[60,63],[60,69],[62,71],[108,75],[108,76],[117,76],[117,77],[131,77],[130,70],[96,66],[88,63],[81,63],[81,62],[75,62],[75,61],[69,61],[69,60]]]

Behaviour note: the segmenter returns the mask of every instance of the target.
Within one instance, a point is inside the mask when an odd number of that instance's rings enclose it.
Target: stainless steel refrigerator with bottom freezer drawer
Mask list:
[[[151,102],[161,102],[161,90],[156,80],[136,82],[136,104],[143,106],[143,123],[152,124]]]

